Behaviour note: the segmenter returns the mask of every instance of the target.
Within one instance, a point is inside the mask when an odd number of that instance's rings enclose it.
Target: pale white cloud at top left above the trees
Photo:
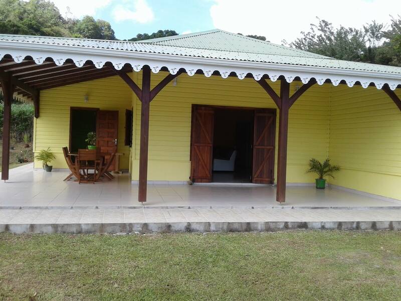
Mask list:
[[[52,0],[56,7],[60,10],[60,13],[65,17],[70,10],[69,16],[81,18],[85,15],[93,16],[99,9],[105,8],[113,0]]]

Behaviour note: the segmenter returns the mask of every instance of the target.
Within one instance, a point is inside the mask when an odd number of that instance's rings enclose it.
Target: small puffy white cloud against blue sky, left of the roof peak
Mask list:
[[[117,5],[113,10],[113,18],[117,22],[131,20],[138,23],[149,23],[154,20],[152,8],[145,0],[134,0],[133,10],[128,5]]]

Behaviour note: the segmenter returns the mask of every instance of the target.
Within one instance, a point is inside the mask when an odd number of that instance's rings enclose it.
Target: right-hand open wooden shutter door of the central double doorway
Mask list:
[[[252,183],[273,184],[276,110],[255,110]]]

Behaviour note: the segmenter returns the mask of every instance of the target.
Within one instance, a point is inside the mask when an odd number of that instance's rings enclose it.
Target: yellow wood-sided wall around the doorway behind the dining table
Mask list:
[[[84,95],[89,101],[84,102]],[[125,109],[132,106],[132,93],[119,77],[113,76],[41,91],[40,117],[35,120],[34,151],[51,147],[56,155],[54,168],[67,168],[62,147],[69,145],[70,107],[118,110],[118,152],[124,153],[120,168],[128,169],[130,148],[124,146]],[[35,162],[40,168],[41,163]]]

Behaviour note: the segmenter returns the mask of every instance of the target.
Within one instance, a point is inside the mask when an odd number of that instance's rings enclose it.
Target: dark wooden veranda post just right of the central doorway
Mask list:
[[[283,203],[287,176],[288,113],[290,110],[290,84],[285,79],[281,79],[280,98],[276,200]]]

